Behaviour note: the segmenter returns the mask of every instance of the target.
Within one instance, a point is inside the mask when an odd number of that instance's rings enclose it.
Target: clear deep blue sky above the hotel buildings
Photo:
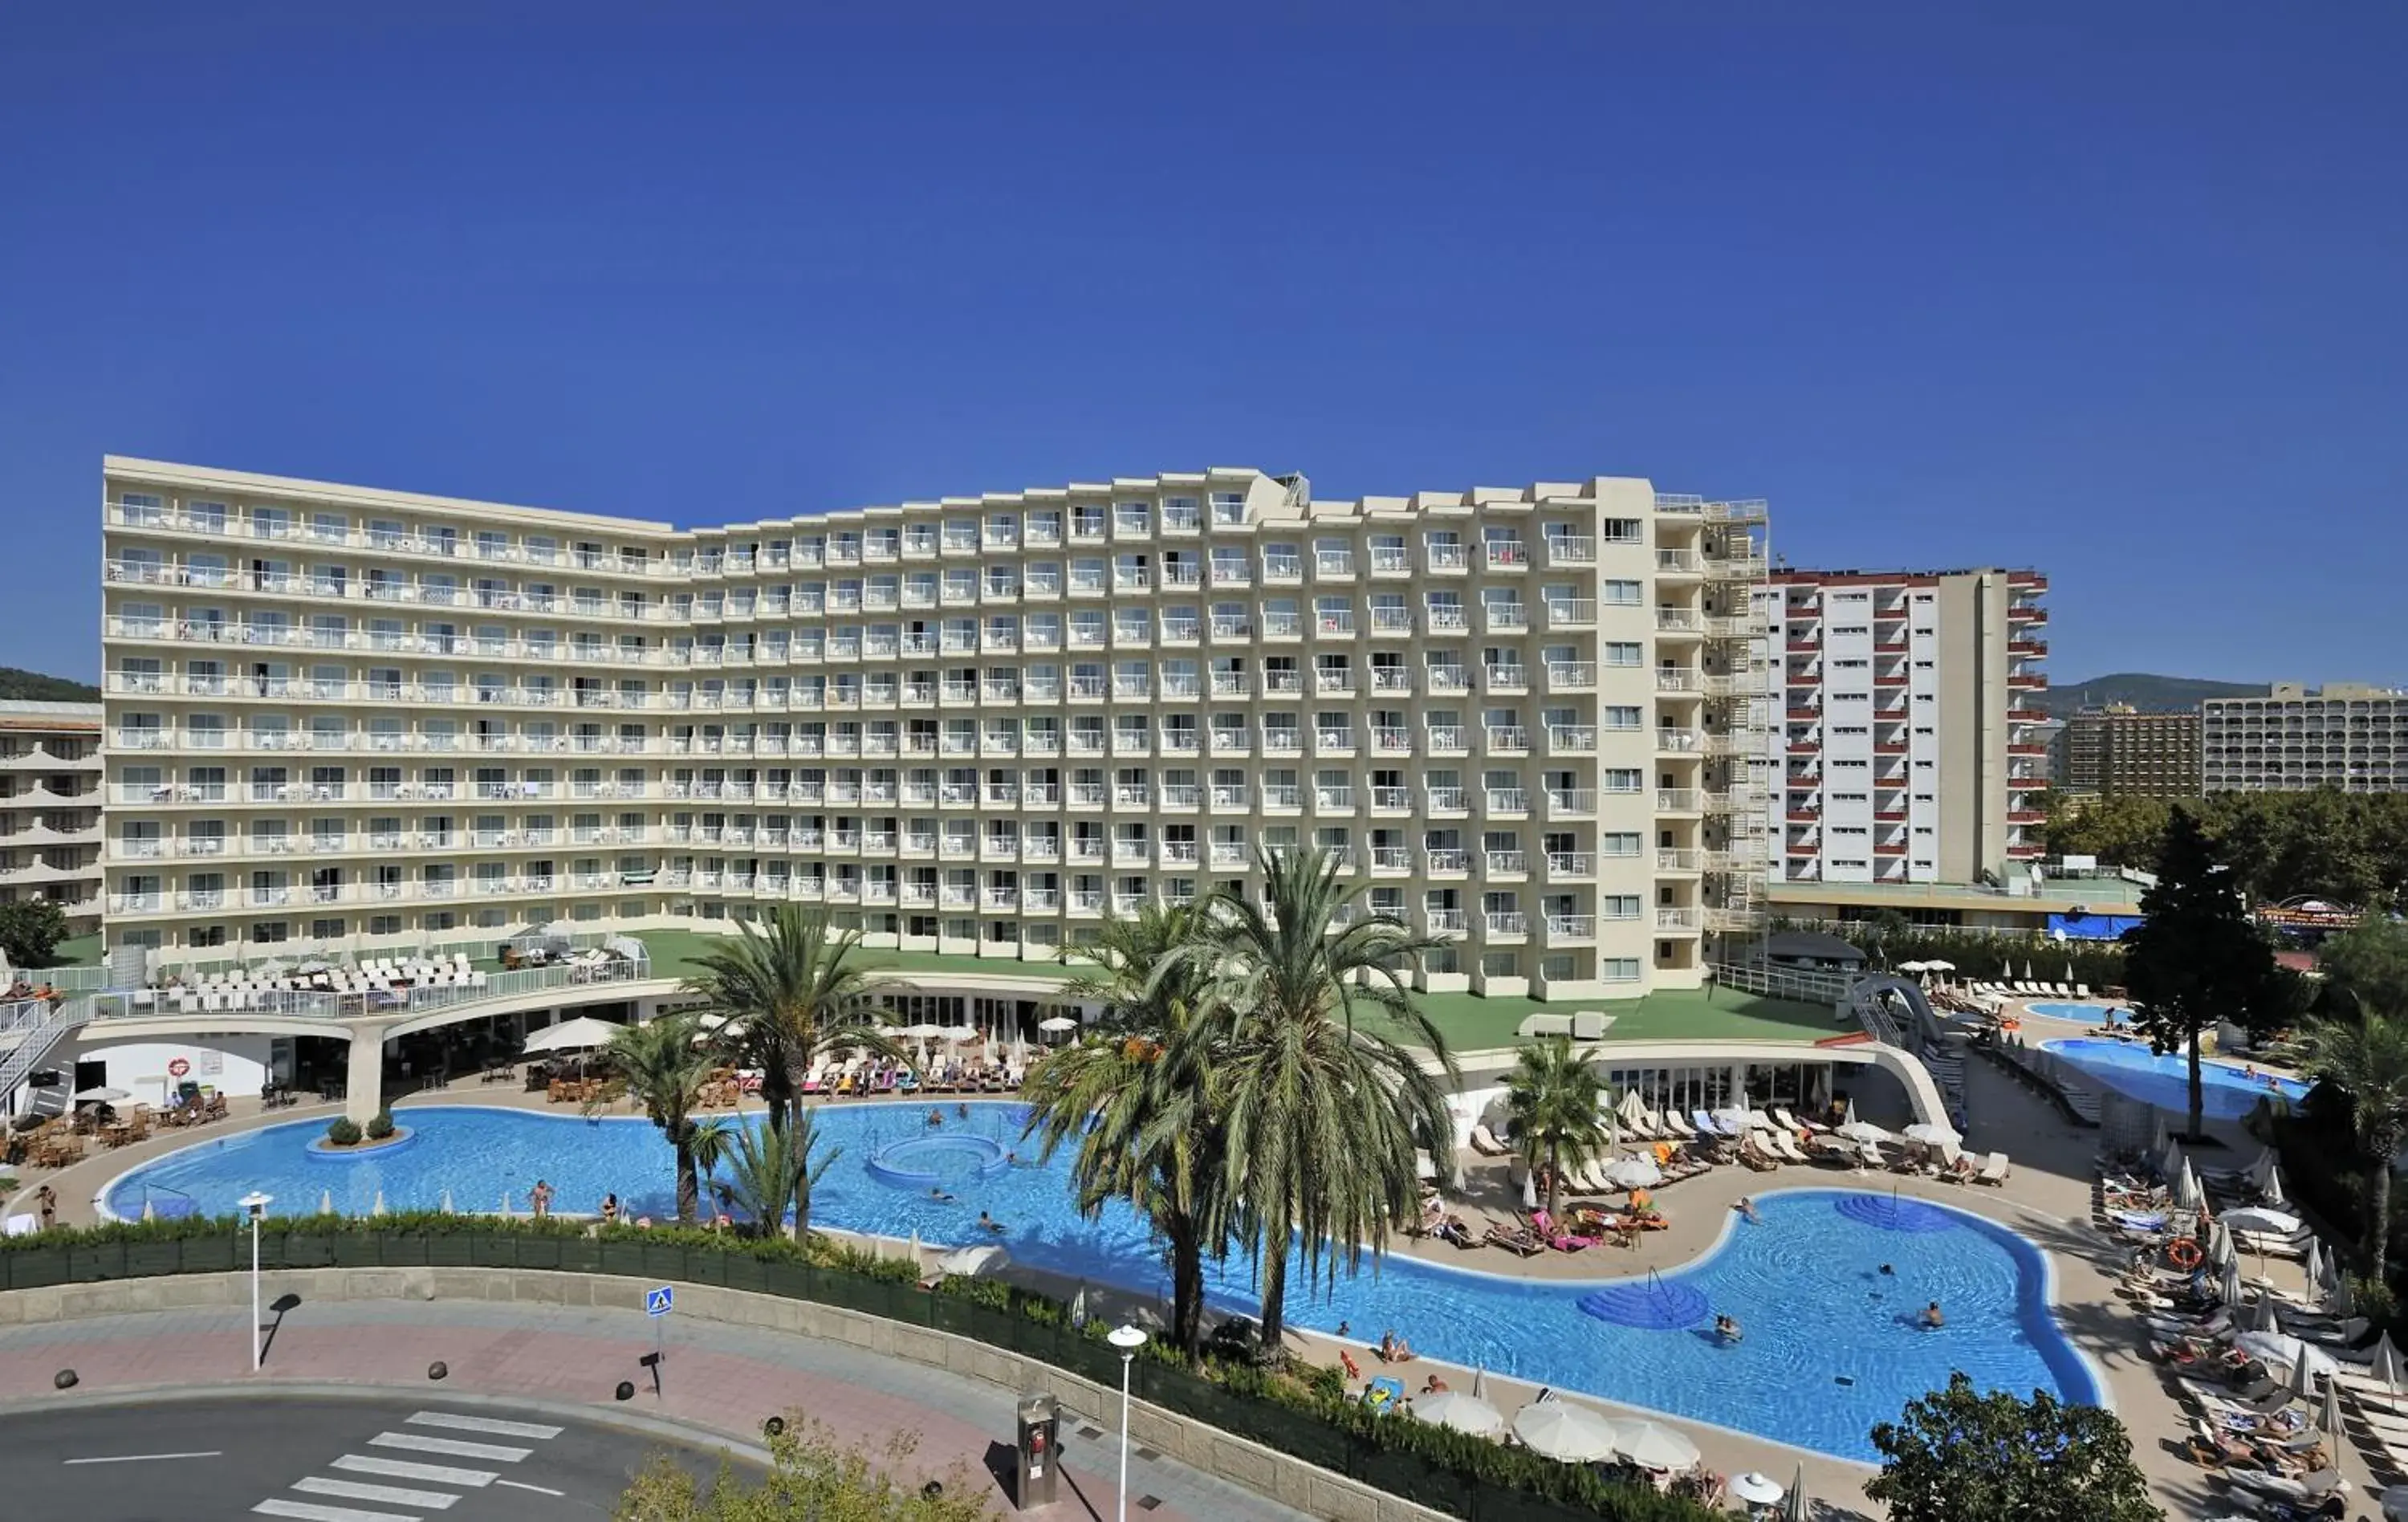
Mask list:
[[[679,523],[1647,474],[2035,564],[2059,679],[2408,677],[2408,7],[482,10],[7,7],[0,662],[96,672],[116,450]]]

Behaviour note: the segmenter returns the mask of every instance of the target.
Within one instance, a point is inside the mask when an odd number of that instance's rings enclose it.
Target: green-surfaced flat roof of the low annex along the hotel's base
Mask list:
[[[725,937],[696,930],[648,930],[643,944],[653,951],[653,973],[684,978],[694,958]],[[1002,973],[1014,978],[1069,978],[1047,961],[987,961],[978,956],[939,956],[934,951],[855,951],[867,968],[905,973]],[[1421,1007],[1438,1021],[1447,1043],[1464,1052],[1515,1045],[1515,1026],[1534,1011],[1565,1014],[1575,1004],[1536,999],[1483,999],[1479,995],[1421,995]],[[1594,1009],[1613,1016],[1606,1040],[1820,1040],[1847,1026],[1830,1019],[1823,1004],[1763,999],[1729,987],[1654,992],[1640,999],[1597,999]]]

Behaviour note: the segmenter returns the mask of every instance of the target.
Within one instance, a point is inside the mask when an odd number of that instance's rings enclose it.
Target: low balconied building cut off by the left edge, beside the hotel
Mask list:
[[[0,903],[101,925],[101,706],[0,701]]]

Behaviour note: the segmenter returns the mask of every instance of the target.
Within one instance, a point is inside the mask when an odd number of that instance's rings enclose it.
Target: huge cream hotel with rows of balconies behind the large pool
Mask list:
[[[1760,901],[1760,503],[1209,470],[681,530],[104,474],[108,939],[164,961],[771,901],[1050,961],[1324,845],[1423,987],[1597,999]]]

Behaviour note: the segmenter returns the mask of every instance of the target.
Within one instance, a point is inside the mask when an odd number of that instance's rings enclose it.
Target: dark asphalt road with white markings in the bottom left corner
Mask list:
[[[0,1515],[75,1522],[595,1522],[669,1450],[551,1409],[209,1397],[65,1406],[0,1428]],[[718,1464],[674,1450],[698,1471]]]

